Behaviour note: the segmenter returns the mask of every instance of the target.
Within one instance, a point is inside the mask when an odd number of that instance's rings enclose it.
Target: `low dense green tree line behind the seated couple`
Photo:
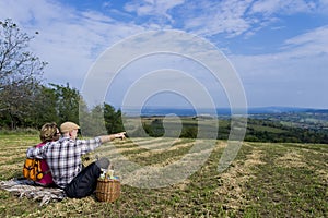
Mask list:
[[[89,109],[79,90],[69,84],[39,85],[27,99],[10,106],[0,111],[1,129],[39,129],[46,122],[72,121],[83,124],[84,135],[124,130],[119,109],[106,102]]]

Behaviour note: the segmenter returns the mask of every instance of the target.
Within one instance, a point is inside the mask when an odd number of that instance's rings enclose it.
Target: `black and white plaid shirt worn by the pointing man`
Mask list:
[[[28,158],[46,159],[54,182],[65,189],[82,170],[81,156],[94,150],[102,144],[99,137],[92,140],[71,140],[61,137],[59,141],[49,142],[43,147],[31,147]]]

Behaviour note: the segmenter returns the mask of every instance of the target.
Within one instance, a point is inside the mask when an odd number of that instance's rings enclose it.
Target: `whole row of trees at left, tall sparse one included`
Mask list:
[[[48,63],[28,48],[37,34],[23,33],[11,19],[0,21],[0,129],[39,129],[46,122],[72,121],[84,123],[87,135],[121,131],[120,110],[107,104],[89,109],[69,84],[43,84]]]

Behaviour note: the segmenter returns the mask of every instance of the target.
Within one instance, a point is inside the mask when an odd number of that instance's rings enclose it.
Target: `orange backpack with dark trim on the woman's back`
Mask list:
[[[38,181],[43,179],[44,173],[40,168],[40,160],[26,158],[23,167],[23,175],[27,180]]]

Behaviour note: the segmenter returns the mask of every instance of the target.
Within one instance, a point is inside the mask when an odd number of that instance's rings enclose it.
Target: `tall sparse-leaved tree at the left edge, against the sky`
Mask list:
[[[12,20],[0,21],[0,112],[12,129],[24,122],[46,65],[28,51],[33,38]]]

